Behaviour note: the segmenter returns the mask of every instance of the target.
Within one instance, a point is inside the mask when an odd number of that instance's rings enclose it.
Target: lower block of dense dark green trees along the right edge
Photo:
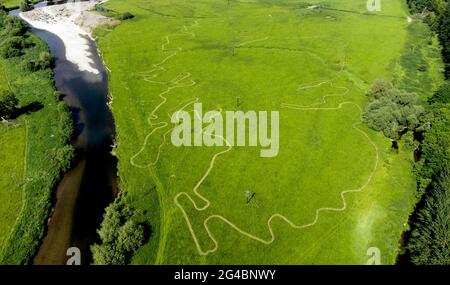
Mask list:
[[[450,264],[450,92],[448,83],[429,100],[431,128],[420,143],[415,164],[421,202],[412,215],[406,241],[409,262]]]

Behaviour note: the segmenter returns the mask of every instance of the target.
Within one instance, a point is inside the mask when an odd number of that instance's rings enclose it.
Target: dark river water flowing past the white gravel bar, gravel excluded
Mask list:
[[[95,42],[90,38],[91,65],[98,74],[80,71],[66,60],[58,36],[31,29],[50,47],[55,61],[54,79],[61,99],[73,115],[75,134],[72,144],[76,159],[57,186],[47,231],[34,264],[65,264],[69,247],[78,247],[82,264],[91,262],[89,246],[98,241],[105,207],[117,193],[116,164],[110,152],[114,140],[114,120],[108,108],[108,78]]]

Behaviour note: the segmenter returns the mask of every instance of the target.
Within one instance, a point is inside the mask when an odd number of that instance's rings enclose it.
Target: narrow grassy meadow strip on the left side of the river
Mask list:
[[[29,33],[25,37],[30,44],[24,55],[0,61],[0,88],[14,92],[22,113],[10,125],[0,124],[0,264],[30,262],[44,234],[53,188],[73,157],[70,113],[59,101],[51,69],[24,67],[48,47]]]

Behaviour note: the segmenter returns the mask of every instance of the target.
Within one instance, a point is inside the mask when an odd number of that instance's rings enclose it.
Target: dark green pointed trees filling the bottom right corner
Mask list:
[[[413,223],[408,250],[414,264],[450,265],[450,174],[442,173]]]

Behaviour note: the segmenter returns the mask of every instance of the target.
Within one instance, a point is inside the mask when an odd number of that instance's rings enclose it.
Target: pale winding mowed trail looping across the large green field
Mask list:
[[[146,72],[138,72],[135,75],[137,76],[141,76],[143,77],[143,80],[145,80],[146,82],[149,82],[151,84],[158,84],[158,85],[168,85],[169,87],[167,87],[166,90],[164,90],[163,92],[158,94],[158,97],[161,99],[160,103],[158,105],[156,105],[156,107],[151,111],[147,122],[148,125],[151,127],[151,131],[145,136],[144,142],[142,144],[142,147],[131,157],[130,159],[130,163],[131,165],[133,165],[134,167],[137,168],[148,168],[149,166],[154,166],[158,163],[159,158],[161,156],[161,151],[162,151],[162,147],[167,143],[167,135],[172,131],[173,128],[169,128],[166,132],[163,133],[163,139],[162,139],[162,143],[158,146],[158,150],[157,150],[157,154],[154,158],[154,160],[150,163],[150,164],[141,164],[139,162],[137,162],[137,160],[139,160],[139,157],[142,155],[142,153],[145,151],[146,147],[149,144],[150,139],[152,138],[152,136],[155,135],[156,131],[158,131],[159,129],[164,129],[166,127],[169,126],[169,123],[167,121],[164,120],[160,120],[159,116],[156,115],[156,113],[161,109],[161,107],[163,105],[165,105],[167,103],[167,96],[170,94],[171,91],[173,91],[176,88],[188,88],[191,86],[194,86],[196,84],[195,81],[189,80],[189,78],[191,77],[191,73],[188,71],[182,72],[180,74],[178,74],[175,78],[173,78],[170,81],[157,81],[157,77],[158,77],[158,72],[164,72],[166,69],[164,68],[164,64],[166,62],[168,62],[171,58],[177,56],[177,54],[179,52],[181,52],[183,49],[181,47],[177,47],[177,48],[167,48],[167,46],[169,46],[171,44],[170,42],[170,38],[172,37],[180,37],[180,36],[189,36],[191,38],[195,38],[195,33],[191,32],[191,29],[193,27],[197,27],[199,25],[198,21],[195,21],[189,28],[186,26],[182,26],[182,28],[180,29],[180,31],[176,34],[170,34],[167,35],[165,37],[165,42],[161,45],[161,51],[163,53],[168,53],[168,55],[159,63],[153,64],[153,68],[149,71]],[[321,38],[321,37],[318,37]],[[236,44],[234,47],[242,47],[251,43],[256,43],[256,42],[262,42],[262,41],[266,41],[268,40],[269,37],[263,37],[263,38],[259,38],[259,39],[254,39],[254,40],[248,40],[242,43],[238,43]],[[344,69],[344,65],[341,68],[341,71]],[[331,79],[327,79],[327,80],[319,80],[319,81],[314,81],[314,82],[309,82],[309,83],[304,83],[301,84],[298,88],[297,91],[301,92],[303,90],[306,89],[314,89],[314,88],[318,88],[322,85],[325,84],[329,84],[331,86],[331,88],[333,89],[340,89],[343,90],[343,92],[338,93],[338,94],[326,94],[324,95],[321,100],[319,102],[315,102],[315,103],[311,103],[309,105],[297,105],[297,104],[292,104],[292,103],[282,103],[281,104],[281,108],[287,108],[287,109],[295,109],[295,110],[299,110],[299,111],[338,111],[341,110],[342,107],[344,105],[352,105],[352,106],[356,106],[360,112],[360,115],[362,115],[362,109],[359,105],[357,105],[354,102],[351,101],[345,101],[345,102],[341,102],[339,103],[338,106],[336,107],[317,107],[320,105],[324,105],[327,103],[327,98],[330,97],[344,97],[345,95],[347,95],[347,93],[349,92],[347,87],[334,87],[333,82],[339,77],[339,74],[341,73],[341,71],[337,72],[336,76],[334,76]],[[181,105],[180,108],[178,108],[177,110],[185,110],[188,106],[196,103],[199,101],[199,98],[194,97],[194,98],[189,98],[187,100],[185,100],[184,102],[179,103],[178,106]],[[177,106],[177,107],[178,107]],[[221,112],[222,110],[220,110]],[[219,112],[219,113],[220,113]],[[201,118],[198,116],[198,114],[194,114],[195,116],[197,116],[200,120]],[[170,118],[170,114],[168,114],[168,117]],[[208,250],[204,250],[201,245],[200,245],[200,241],[195,233],[195,230],[193,228],[193,225],[189,219],[189,215],[187,214],[187,212],[185,211],[184,207],[180,204],[179,202],[179,198],[184,196],[186,197],[194,206],[194,208],[197,211],[205,211],[206,209],[208,209],[210,207],[211,202],[205,197],[203,196],[200,192],[199,192],[199,188],[200,186],[203,184],[203,182],[208,178],[209,174],[211,173],[211,171],[213,170],[214,166],[216,163],[218,163],[219,157],[222,155],[225,155],[227,152],[232,150],[232,146],[231,144],[222,136],[217,135],[217,137],[220,137],[223,142],[226,145],[226,149],[220,152],[217,152],[216,154],[213,155],[213,157],[211,158],[210,162],[209,162],[209,166],[206,170],[206,172],[203,174],[203,176],[199,179],[199,181],[195,184],[195,186],[192,188],[192,192],[194,193],[194,195],[196,195],[198,198],[200,198],[203,202],[204,205],[203,206],[198,206],[197,203],[194,201],[194,199],[191,197],[191,195],[188,192],[182,191],[179,192],[177,195],[175,195],[175,197],[173,198],[173,202],[175,203],[175,205],[180,209],[180,211],[183,214],[183,217],[186,221],[186,224],[188,226],[188,229],[192,235],[192,238],[194,240],[194,243],[196,245],[196,248],[198,250],[198,253],[200,255],[208,255],[210,253],[213,253],[215,251],[217,251],[217,249],[219,248],[219,242],[218,240],[215,238],[214,234],[212,233],[212,231],[210,230],[209,226],[208,226],[208,222],[211,221],[212,219],[218,219],[223,221],[225,224],[227,224],[228,226],[230,226],[232,229],[234,229],[236,232],[238,232],[239,234],[253,239],[255,241],[258,241],[260,243],[269,245],[271,243],[274,242],[276,235],[272,229],[272,221],[274,221],[275,219],[280,219],[283,220],[285,223],[287,223],[290,227],[294,228],[294,229],[307,229],[310,227],[313,227],[314,225],[317,224],[319,218],[320,218],[320,213],[321,212],[341,212],[344,211],[347,208],[347,201],[346,201],[346,195],[350,194],[350,193],[358,193],[363,191],[368,185],[369,183],[372,181],[372,178],[375,174],[375,171],[379,165],[379,151],[378,151],[378,147],[377,145],[370,139],[370,137],[368,136],[368,134],[366,132],[364,132],[363,130],[361,130],[360,128],[357,127],[357,125],[359,125],[360,123],[355,123],[352,125],[352,128],[354,130],[356,130],[357,132],[359,132],[367,141],[368,143],[373,147],[373,149],[375,150],[376,153],[376,158],[375,158],[375,162],[373,165],[373,168],[371,170],[371,173],[369,175],[369,177],[367,178],[367,180],[365,181],[365,183],[359,187],[356,187],[354,189],[344,189],[340,192],[340,199],[341,199],[341,203],[342,206],[341,207],[320,207],[317,208],[315,210],[315,215],[314,215],[314,219],[309,222],[309,223],[305,223],[305,224],[296,224],[295,222],[291,221],[289,218],[285,217],[284,215],[280,214],[280,213],[274,213],[272,214],[272,216],[270,216],[270,218],[267,220],[267,230],[270,234],[270,238],[268,239],[264,239],[261,238],[259,236],[256,236],[254,234],[251,234],[248,231],[245,231],[243,229],[241,229],[239,226],[237,226],[235,223],[233,223],[232,221],[230,221],[229,219],[227,219],[226,217],[222,216],[222,215],[217,215],[217,214],[213,214],[208,216],[204,221],[203,221],[203,226],[209,236],[209,238],[211,239],[211,241],[213,242],[214,246],[211,249]],[[203,130],[203,133],[204,130]],[[216,137],[216,135],[214,134],[210,134],[214,137]]]

